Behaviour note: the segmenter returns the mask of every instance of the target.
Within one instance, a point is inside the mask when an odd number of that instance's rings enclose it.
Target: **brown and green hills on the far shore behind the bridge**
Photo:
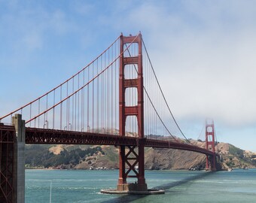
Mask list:
[[[204,147],[205,142],[190,140]],[[255,168],[256,153],[241,150],[232,144],[218,143],[218,168]],[[118,147],[90,145],[26,145],[26,168],[53,169],[113,169],[118,168]],[[145,169],[203,170],[206,156],[185,150],[145,147]]]

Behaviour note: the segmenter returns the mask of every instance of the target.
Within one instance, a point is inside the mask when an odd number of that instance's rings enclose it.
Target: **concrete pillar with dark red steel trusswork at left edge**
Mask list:
[[[0,202],[25,202],[25,121],[12,117],[13,126],[0,123]]]

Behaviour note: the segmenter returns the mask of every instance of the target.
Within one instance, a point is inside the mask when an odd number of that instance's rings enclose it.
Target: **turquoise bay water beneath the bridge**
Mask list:
[[[149,188],[164,195],[105,195],[118,171],[26,170],[26,203],[50,202],[256,202],[256,169],[234,171],[145,171]]]

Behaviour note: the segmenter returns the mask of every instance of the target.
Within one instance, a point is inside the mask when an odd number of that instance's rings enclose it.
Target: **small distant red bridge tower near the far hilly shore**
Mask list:
[[[206,170],[216,171],[215,124],[213,120],[206,120],[206,150],[211,150],[214,153],[211,158],[206,156]],[[211,168],[209,168],[209,163]]]

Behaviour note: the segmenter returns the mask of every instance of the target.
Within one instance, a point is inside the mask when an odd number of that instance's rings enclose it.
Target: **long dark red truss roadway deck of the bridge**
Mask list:
[[[1,128],[1,126],[0,126]],[[5,126],[5,129],[15,131],[14,126]],[[26,128],[26,144],[99,144],[116,146],[138,146],[144,142],[145,147],[172,148],[203,153],[213,156],[212,151],[190,144],[174,141],[161,141],[149,138],[134,138],[120,135],[98,134],[93,132],[72,132],[56,129]]]

